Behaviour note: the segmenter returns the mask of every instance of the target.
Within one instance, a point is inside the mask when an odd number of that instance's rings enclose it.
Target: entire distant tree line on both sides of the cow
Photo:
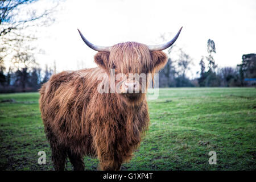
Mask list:
[[[159,72],[159,87],[194,87],[194,86],[251,86],[245,78],[256,77],[256,55],[243,55],[242,63],[237,67],[218,68],[214,60],[216,53],[213,40],[207,42],[207,56],[200,60],[200,71],[198,77],[189,79],[188,72],[191,71],[193,60],[179,49],[177,59],[170,57],[172,48],[168,50],[168,61],[166,66]],[[51,75],[56,72],[56,66],[50,68],[46,65],[44,69],[38,67],[34,56],[27,52],[19,52],[14,56],[18,59],[19,67],[14,71],[10,67],[8,71],[0,65],[0,93],[10,92],[35,92]],[[14,64],[15,65],[15,64]]]

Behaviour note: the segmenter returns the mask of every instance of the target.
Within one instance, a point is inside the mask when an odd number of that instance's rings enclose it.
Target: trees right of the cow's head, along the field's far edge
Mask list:
[[[191,57],[180,49],[179,58],[174,60],[168,50],[166,66],[159,72],[159,87],[190,87],[190,86],[256,86],[256,82],[246,82],[256,78],[256,54],[242,56],[242,63],[236,67],[219,68],[214,60],[216,47],[213,40],[207,41],[207,56],[200,60],[199,76],[189,79],[187,72],[193,65]],[[256,80],[256,79],[255,79]]]

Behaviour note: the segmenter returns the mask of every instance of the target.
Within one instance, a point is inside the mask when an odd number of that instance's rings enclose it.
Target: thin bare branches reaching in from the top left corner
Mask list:
[[[28,28],[48,26],[54,21],[51,14],[58,5],[54,2],[52,1],[51,8],[39,9],[35,6],[39,0],[0,1],[1,65],[7,56],[9,60],[13,60],[14,55],[18,54],[24,44],[36,39],[36,36],[31,34]]]

